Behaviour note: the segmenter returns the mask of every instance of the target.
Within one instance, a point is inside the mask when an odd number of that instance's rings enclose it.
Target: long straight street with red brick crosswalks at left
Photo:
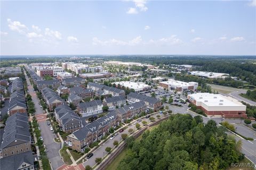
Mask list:
[[[26,80],[27,80],[27,84],[29,85],[28,86],[29,94],[31,95],[31,98],[35,104],[36,117],[39,118],[38,124],[39,124],[39,128],[41,129],[44,145],[46,147],[47,157],[51,162],[52,168],[54,170],[58,169],[58,167],[64,164],[59,155],[61,143],[54,142],[55,134],[50,130],[50,126],[47,125],[45,118],[43,118],[43,121],[40,119],[40,117],[46,117],[46,114],[43,114],[43,109],[39,105],[39,99],[37,98],[34,92],[33,86],[31,86],[31,83],[27,75],[26,75]]]

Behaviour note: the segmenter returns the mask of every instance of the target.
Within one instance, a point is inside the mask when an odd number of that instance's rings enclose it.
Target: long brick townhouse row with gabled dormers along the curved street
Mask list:
[[[74,150],[83,152],[86,147],[89,147],[93,142],[104,137],[110,128],[116,128],[119,122],[124,122],[133,116],[140,115],[146,109],[146,103],[140,101],[111,111],[98,120],[86,124],[83,128],[68,135],[68,146]]]

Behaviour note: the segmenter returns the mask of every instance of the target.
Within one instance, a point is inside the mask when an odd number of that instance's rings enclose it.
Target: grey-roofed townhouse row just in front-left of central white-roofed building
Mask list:
[[[96,96],[125,96],[125,91],[115,87],[109,87],[98,83],[89,82],[87,88],[93,89]]]

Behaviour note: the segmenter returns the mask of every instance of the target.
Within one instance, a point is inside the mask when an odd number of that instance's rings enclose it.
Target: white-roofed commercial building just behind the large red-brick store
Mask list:
[[[189,91],[189,90],[196,90],[198,87],[197,82],[183,82],[178,80],[169,79],[168,81],[159,82],[159,86],[169,89],[169,90],[176,90],[176,91]]]

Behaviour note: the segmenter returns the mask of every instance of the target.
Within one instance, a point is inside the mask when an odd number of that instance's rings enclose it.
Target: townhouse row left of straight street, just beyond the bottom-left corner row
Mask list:
[[[9,99],[8,114],[11,116],[15,113],[27,113],[26,99],[24,94],[22,79],[15,79],[12,82],[11,96]]]

